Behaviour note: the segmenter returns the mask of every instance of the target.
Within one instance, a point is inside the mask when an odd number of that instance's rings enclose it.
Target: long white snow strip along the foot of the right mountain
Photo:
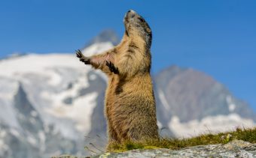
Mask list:
[[[255,127],[251,119],[241,118],[237,114],[208,116],[201,121],[193,120],[181,123],[177,116],[169,122],[169,128],[177,137],[198,136],[203,133],[220,133],[234,130],[236,127]]]

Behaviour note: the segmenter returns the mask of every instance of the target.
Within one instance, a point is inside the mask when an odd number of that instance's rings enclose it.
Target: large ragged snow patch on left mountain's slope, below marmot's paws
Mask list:
[[[85,73],[88,73],[88,71]],[[93,108],[96,106],[94,100],[96,99],[97,94],[93,93],[87,94],[84,97],[78,97],[78,91],[81,88],[87,88],[88,86],[89,82],[87,81],[87,77],[82,76],[78,78],[77,82],[73,83],[72,88],[69,88],[66,91],[61,91],[59,93],[41,91],[40,96],[51,101],[51,106],[44,109],[48,115],[60,119],[71,119],[75,123],[72,124],[74,127],[69,127],[66,122],[51,120],[53,122],[50,123],[56,124],[56,129],[59,130],[63,136],[75,139],[77,136],[74,132],[75,130],[78,130],[83,134],[90,132],[90,115],[93,112]],[[67,105],[63,102],[67,97],[72,98],[72,105]],[[67,130],[67,128],[69,129]],[[73,128],[75,128],[75,130]]]

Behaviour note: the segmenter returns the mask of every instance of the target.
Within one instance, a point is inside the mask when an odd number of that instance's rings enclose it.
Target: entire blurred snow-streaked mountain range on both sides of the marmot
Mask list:
[[[110,31],[94,39],[82,50],[84,55],[116,44]],[[75,53],[2,59],[0,157],[89,153],[84,146],[90,151],[104,149],[106,80]],[[255,125],[256,117],[246,103],[197,70],[166,68],[154,76],[154,85],[163,135],[194,136]]]

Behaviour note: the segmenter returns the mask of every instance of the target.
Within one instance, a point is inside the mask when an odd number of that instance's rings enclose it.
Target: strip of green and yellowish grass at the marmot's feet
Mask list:
[[[143,142],[123,142],[122,144],[113,143],[108,147],[111,152],[123,152],[133,149],[152,149],[152,148],[168,148],[178,150],[181,148],[192,147],[196,145],[216,145],[227,144],[233,140],[243,140],[245,142],[256,143],[256,128],[254,129],[239,129],[233,132],[205,134],[190,139],[148,139]]]

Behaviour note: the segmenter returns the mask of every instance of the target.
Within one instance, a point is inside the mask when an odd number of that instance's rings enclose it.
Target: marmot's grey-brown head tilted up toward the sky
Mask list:
[[[130,36],[139,36],[145,40],[148,48],[151,46],[152,32],[145,19],[134,10],[129,10],[124,18],[125,34]]]

